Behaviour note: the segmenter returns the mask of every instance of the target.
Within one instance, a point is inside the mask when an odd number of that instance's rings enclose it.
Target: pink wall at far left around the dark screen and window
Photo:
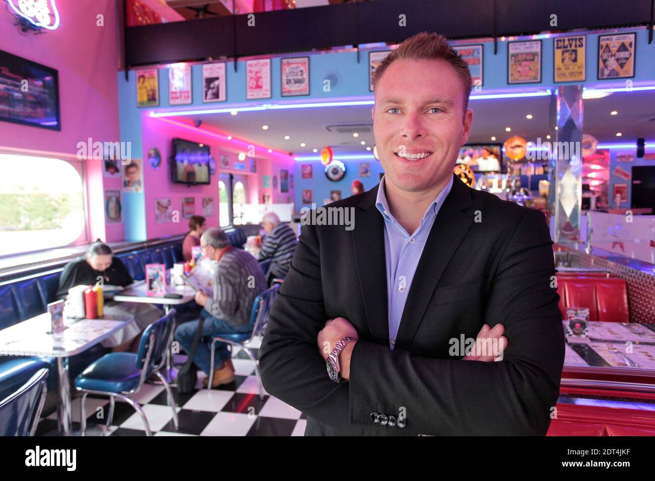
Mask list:
[[[0,122],[1,147],[43,151],[42,155],[75,155],[77,143],[88,137],[101,142],[120,140],[117,2],[94,0],[92,8],[81,3],[86,2],[58,1],[61,26],[34,35],[31,31],[22,33],[5,9],[6,3],[0,2],[0,48],[58,70],[62,122],[59,132]],[[104,17],[104,26],[97,25],[99,14]],[[99,164],[87,161],[85,166],[90,234],[92,239],[119,241],[123,239],[122,224],[105,226],[102,205],[103,189],[120,188],[121,181],[103,178]]]

